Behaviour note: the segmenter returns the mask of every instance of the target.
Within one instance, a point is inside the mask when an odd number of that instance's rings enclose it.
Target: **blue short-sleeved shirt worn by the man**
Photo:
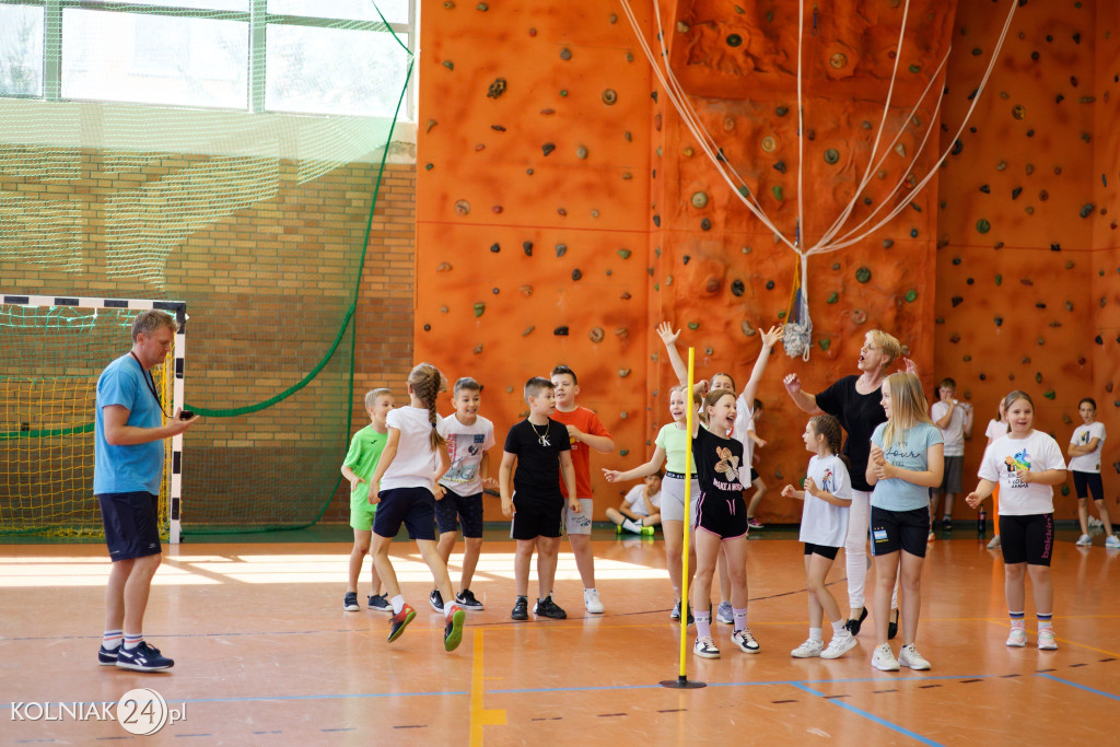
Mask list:
[[[162,413],[159,402],[146,383],[147,373],[131,354],[116,358],[97,380],[97,404],[94,419],[93,493],[133,493],[147,491],[159,495],[164,476],[164,441],[134,446],[110,446],[105,440],[103,409],[111,404],[127,408],[127,424],[159,428]]]

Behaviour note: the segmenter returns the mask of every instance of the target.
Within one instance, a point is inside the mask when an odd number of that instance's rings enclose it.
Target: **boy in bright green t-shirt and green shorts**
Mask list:
[[[343,477],[351,484],[351,526],[354,527],[354,549],[351,550],[349,580],[346,596],[343,598],[343,609],[356,613],[357,577],[362,575],[362,564],[370,554],[370,539],[373,534],[373,516],[377,506],[370,504],[370,477],[377,468],[381,451],[389,440],[389,428],[385,415],[393,409],[393,393],[388,389],[375,389],[365,395],[365,409],[370,413],[370,424],[354,433],[351,448],[343,460]],[[381,579],[377,578],[377,567],[371,568],[373,577],[372,591],[367,599],[370,609],[381,613],[392,613],[393,607],[381,594]]]

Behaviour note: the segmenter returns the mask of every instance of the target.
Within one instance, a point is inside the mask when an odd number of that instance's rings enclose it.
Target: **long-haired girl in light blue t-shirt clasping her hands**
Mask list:
[[[922,561],[930,531],[930,488],[941,485],[944,440],[927,414],[922,383],[912,373],[883,382],[887,422],[871,433],[867,482],[871,492],[871,550],[875,554],[875,632],[878,644],[871,666],[897,672],[898,666],[927,670],[914,646],[922,608]],[[903,647],[895,660],[887,643],[887,610],[895,575],[902,569]]]

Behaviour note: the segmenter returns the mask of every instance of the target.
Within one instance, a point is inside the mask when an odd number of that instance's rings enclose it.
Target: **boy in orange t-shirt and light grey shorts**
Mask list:
[[[564,504],[564,526],[568,541],[571,542],[572,554],[576,555],[576,568],[584,581],[584,607],[592,615],[603,614],[603,603],[595,588],[595,558],[591,555],[591,460],[590,450],[607,454],[614,451],[615,441],[599,417],[587,408],[576,404],[579,394],[579,383],[576,373],[564,365],[552,370],[552,385],[556,386],[557,409],[552,419],[568,427],[571,438],[571,461],[576,467],[576,497],[579,498],[582,511],[570,512]],[[561,482],[560,489],[568,497],[567,487]]]

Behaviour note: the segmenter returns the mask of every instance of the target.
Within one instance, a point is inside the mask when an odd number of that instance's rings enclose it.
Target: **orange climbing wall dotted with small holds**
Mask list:
[[[652,41],[652,3],[633,4]],[[894,65],[887,50],[902,24],[898,2],[833,7],[805,36],[810,242],[867,169]],[[704,96],[692,100],[698,119],[792,236],[796,3],[661,8],[673,69]],[[805,417],[781,377],[797,372],[820,391],[856,373],[867,329],[902,340],[931,398],[936,381],[953,376],[974,404],[969,475],[988,418],[1011,389],[1035,398],[1037,426],[1060,441],[1082,396],[1095,396],[1100,418],[1116,422],[1118,11],[1105,2],[1019,2],[956,138],[1008,9],[909,3],[888,132],[906,124],[951,45],[944,95],[936,110],[935,83],[860,193],[851,223],[872,209],[864,196],[877,205],[908,176],[925,128],[936,137],[912,172],[921,178],[941,150],[951,155],[875,234],[810,258],[811,358],[778,352],[760,391],[769,521],[800,515],[777,493],[806,464]],[[594,459],[594,471],[636,466],[669,420],[674,383],[656,323],[682,330],[682,351],[697,348],[698,376],[728,371],[741,386],[756,328],[788,309],[793,252],[702,155],[620,4],[432,1],[421,43],[417,358],[480,380],[484,413],[500,433],[524,414],[525,379],[567,363],[580,376],[580,403],[616,439],[616,454]],[[1107,443],[1105,463],[1118,456]],[[1116,499],[1114,479],[1105,479]],[[601,516],[619,488],[598,479],[595,489]],[[1058,505],[1060,517],[1074,515],[1072,499]],[[956,513],[968,513],[962,503]]]

